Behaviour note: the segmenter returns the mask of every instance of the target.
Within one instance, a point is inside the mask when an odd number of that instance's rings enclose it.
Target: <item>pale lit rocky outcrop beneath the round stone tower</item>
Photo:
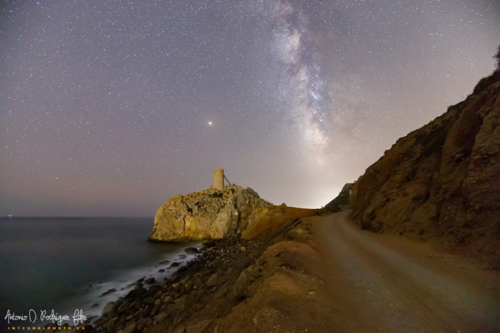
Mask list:
[[[270,206],[252,188],[226,186],[170,198],[155,215],[149,240],[204,241],[235,235]],[[257,209],[258,208],[258,209]]]

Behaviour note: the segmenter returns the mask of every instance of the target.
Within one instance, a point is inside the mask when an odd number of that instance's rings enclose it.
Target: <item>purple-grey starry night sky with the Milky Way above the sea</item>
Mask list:
[[[0,215],[318,208],[494,69],[500,1],[1,1]]]

